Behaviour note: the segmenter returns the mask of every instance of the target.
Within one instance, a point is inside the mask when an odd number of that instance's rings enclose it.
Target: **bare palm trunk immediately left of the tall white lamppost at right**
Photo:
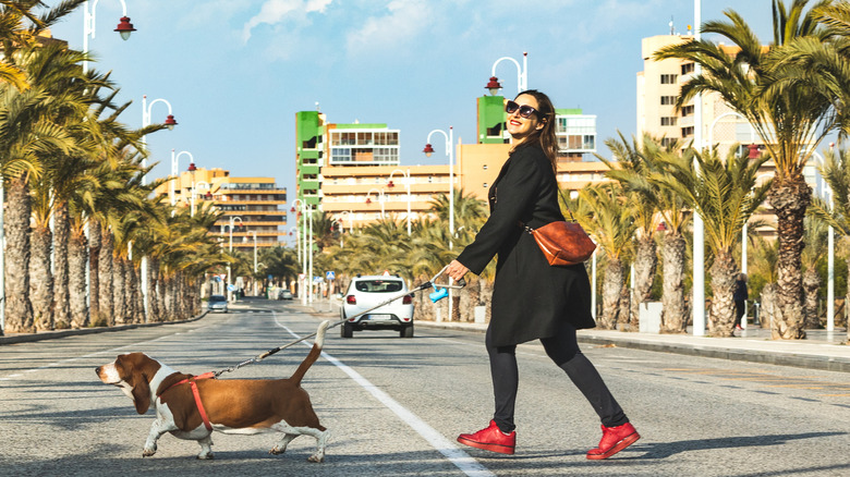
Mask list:
[[[661,294],[661,333],[684,333],[688,317],[684,305],[684,253],[685,242],[678,233],[664,237],[664,291]]]

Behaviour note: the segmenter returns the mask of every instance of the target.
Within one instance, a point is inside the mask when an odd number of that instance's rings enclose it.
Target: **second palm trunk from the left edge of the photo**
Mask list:
[[[36,330],[49,331],[53,327],[53,273],[50,271],[50,244],[52,234],[48,227],[36,227],[31,232],[29,299]]]

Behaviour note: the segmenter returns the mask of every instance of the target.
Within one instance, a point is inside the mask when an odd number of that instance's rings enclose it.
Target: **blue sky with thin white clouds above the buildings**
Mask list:
[[[529,86],[557,108],[597,115],[598,148],[635,131],[641,38],[693,23],[692,0],[125,0],[137,28],[113,33],[119,0],[97,3],[92,68],[112,71],[122,114],[142,125],[142,96],[168,100],[174,131],[148,136],[153,176],[170,172],[171,149],[198,167],[274,176],[295,193],[294,115],[319,102],[336,123],[401,130],[401,163],[445,161],[422,154],[427,134],[454,127],[475,140],[475,98],[501,57],[529,52]],[[49,1],[56,4],[54,1]],[[790,3],[790,0],[787,2]],[[770,40],[770,0],[703,0],[702,20],[730,8]],[[82,49],[82,9],[53,28]],[[499,63],[503,94],[517,69]],[[168,108],[151,108],[154,122]],[[435,145],[436,147],[437,145]],[[180,170],[189,166],[186,155]]]

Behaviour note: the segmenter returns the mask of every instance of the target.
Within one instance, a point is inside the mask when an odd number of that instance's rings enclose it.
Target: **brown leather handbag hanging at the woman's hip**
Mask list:
[[[596,244],[578,222],[560,220],[537,229],[523,227],[532,234],[551,266],[582,264],[596,249]]]

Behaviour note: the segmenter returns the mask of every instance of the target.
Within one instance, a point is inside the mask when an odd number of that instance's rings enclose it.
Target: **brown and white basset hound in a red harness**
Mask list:
[[[178,372],[143,353],[122,354],[96,371],[105,383],[121,388],[138,414],[145,414],[155,403],[157,418],[150,426],[144,457],[154,455],[157,440],[171,432],[178,439],[197,441],[197,458],[212,458],[210,436],[217,430],[236,435],[281,432],[272,454],[286,452],[287,444],[299,436],[313,436],[317,449],[307,461],[323,462],[330,432],[319,424],[309,395],[300,384],[321,354],[329,325],[327,320],[319,325],[313,348],[289,379],[195,380],[198,377]],[[197,393],[193,392],[193,382]]]

